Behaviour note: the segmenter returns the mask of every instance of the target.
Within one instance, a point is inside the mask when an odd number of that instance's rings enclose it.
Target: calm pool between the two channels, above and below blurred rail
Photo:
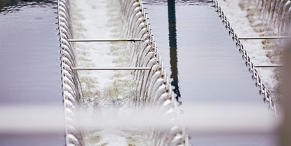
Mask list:
[[[168,20],[167,1],[144,2],[163,63],[173,80],[175,76],[172,75],[177,74],[176,83],[179,86],[182,109],[184,106],[193,107],[199,104],[239,104],[241,107],[236,107],[236,110],[248,110],[248,105],[252,105],[267,111],[268,106],[263,102],[264,97],[259,95],[259,88],[255,86],[255,81],[252,81],[252,74],[248,72],[248,67],[245,67],[242,54],[231,41],[231,36],[211,3],[176,1],[174,34],[177,35],[177,43],[172,46],[173,41],[169,43],[169,39],[171,41],[173,38],[169,28],[169,21],[172,23],[172,20]],[[173,48],[175,51],[172,51]],[[174,56],[171,56],[173,54]],[[184,114],[188,116],[197,113],[186,109]],[[200,113],[210,114],[203,110]],[[191,136],[192,145],[276,145],[273,132],[199,134],[189,128],[187,133]]]

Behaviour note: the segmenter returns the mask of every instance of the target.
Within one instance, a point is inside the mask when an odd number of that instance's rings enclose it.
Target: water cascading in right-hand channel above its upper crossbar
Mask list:
[[[255,25],[262,26],[261,31],[269,36],[289,36],[290,35],[290,15],[291,1],[289,0],[256,0],[242,1],[242,5],[248,7],[248,18],[255,22]],[[261,21],[258,21],[261,20]],[[279,40],[276,42],[278,48],[282,48]]]

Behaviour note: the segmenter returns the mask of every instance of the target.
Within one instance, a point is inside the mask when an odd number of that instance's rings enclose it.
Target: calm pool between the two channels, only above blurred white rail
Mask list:
[[[146,6],[156,44],[165,67],[170,71],[168,8],[163,5]],[[262,101],[259,88],[255,87],[245,62],[213,11],[208,4],[178,4],[176,7],[177,68],[184,94],[182,100],[184,103],[257,101],[259,104]],[[191,17],[182,16],[184,13]],[[217,98],[213,98],[214,94]]]

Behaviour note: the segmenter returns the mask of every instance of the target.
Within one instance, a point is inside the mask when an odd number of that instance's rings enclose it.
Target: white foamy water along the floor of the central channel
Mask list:
[[[74,39],[121,38],[117,1],[72,0]],[[126,43],[75,43],[78,67],[128,67]],[[142,132],[119,127],[119,119],[133,110],[129,71],[79,71],[83,91],[83,117],[96,127],[84,130],[88,145],[144,145]],[[116,125],[114,127],[102,125]]]

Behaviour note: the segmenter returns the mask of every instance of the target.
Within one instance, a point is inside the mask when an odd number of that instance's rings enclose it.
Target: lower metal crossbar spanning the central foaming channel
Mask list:
[[[108,67],[108,68],[96,68],[96,67],[71,67],[72,70],[150,70],[151,67]]]

